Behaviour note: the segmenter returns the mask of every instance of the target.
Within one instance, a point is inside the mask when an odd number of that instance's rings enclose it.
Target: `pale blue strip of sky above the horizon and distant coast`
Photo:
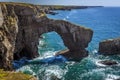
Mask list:
[[[44,5],[120,6],[120,0],[0,0]]]

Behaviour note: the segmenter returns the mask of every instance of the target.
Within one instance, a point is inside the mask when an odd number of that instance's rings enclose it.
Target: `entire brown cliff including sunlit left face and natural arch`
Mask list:
[[[40,7],[34,5],[0,5],[0,68],[12,69],[13,59],[23,56],[37,57],[40,35],[50,31],[56,31],[62,37],[69,49],[69,54],[65,53],[67,58],[87,56],[85,48],[91,41],[92,30],[67,21],[48,19]]]

